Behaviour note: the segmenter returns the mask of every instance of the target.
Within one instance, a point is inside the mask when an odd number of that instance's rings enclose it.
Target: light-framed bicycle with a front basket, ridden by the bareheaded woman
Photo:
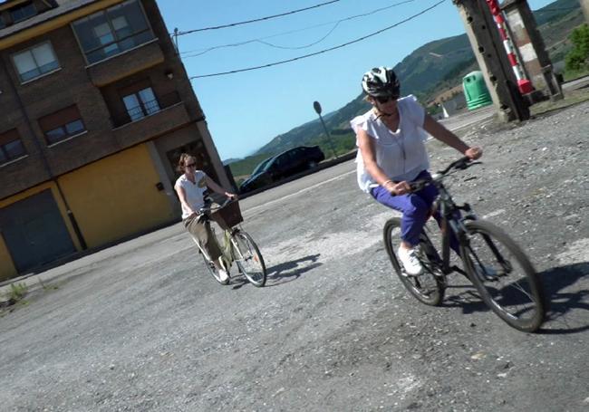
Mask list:
[[[223,229],[222,243],[218,242],[217,235],[213,237],[223,252],[221,263],[229,274],[226,281],[220,279],[215,263],[210,259],[207,251],[198,243],[198,239],[193,239],[203,256],[208,273],[218,283],[228,284],[231,282],[229,270],[232,263],[235,262],[239,273],[243,274],[249,283],[257,287],[266,284],[266,263],[264,263],[264,258],[252,236],[239,227],[239,224],[243,222],[243,218],[239,212],[237,201],[227,199],[219,206],[212,206],[212,203],[208,202],[206,206],[198,210],[198,219],[207,225],[210,225],[211,221],[217,222],[217,225]],[[211,230],[215,233],[214,228],[211,228]]]

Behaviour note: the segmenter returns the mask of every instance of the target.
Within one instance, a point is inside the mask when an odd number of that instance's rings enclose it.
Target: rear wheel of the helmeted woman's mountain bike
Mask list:
[[[435,247],[430,241],[430,237],[422,231],[420,234],[420,244],[418,248],[418,257],[423,265],[423,273],[419,276],[409,276],[404,273],[399,258],[397,257],[396,249],[401,243],[401,238],[393,234],[396,229],[401,229],[401,219],[393,217],[384,224],[383,240],[384,246],[389,254],[392,267],[397,273],[401,283],[405,286],[413,297],[418,301],[430,306],[439,306],[444,299],[445,285],[439,275],[435,274],[437,271],[437,263],[433,262],[434,255],[438,256]],[[439,256],[438,256],[439,261]]]

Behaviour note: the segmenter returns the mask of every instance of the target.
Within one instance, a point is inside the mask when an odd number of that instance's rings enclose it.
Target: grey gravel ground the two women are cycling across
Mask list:
[[[551,302],[540,333],[509,328],[461,276],[441,307],[412,299],[381,244],[391,212],[351,163],[246,210],[265,288],[214,283],[179,225],[60,268],[2,311],[0,408],[587,410],[587,130],[589,103],[464,130],[485,163],[450,186],[534,262]],[[433,169],[457,158],[430,154]]]

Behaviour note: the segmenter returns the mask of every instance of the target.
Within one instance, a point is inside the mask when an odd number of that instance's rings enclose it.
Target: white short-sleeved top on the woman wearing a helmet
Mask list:
[[[413,95],[401,98],[397,102],[397,108],[400,116],[399,129],[394,132],[380,119],[376,119],[372,110],[355,117],[350,125],[355,133],[362,129],[374,139],[376,163],[391,180],[410,181],[421,170],[430,168],[425,149],[428,134],[423,129],[425,110]],[[364,192],[370,193],[370,189],[377,183],[364,168],[360,148],[356,155],[356,164],[358,186]]]

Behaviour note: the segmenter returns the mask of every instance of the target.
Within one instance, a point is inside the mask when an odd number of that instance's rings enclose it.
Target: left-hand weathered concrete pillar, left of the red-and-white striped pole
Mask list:
[[[453,0],[453,3],[459,9],[499,119],[529,119],[528,104],[517,90],[516,76],[487,3],[485,0]]]

